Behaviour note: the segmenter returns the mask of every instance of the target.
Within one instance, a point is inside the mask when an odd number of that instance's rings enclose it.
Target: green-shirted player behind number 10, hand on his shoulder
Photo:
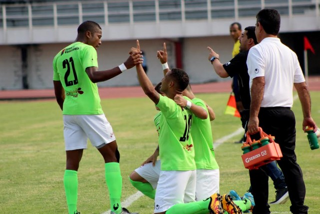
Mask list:
[[[163,43],[163,50],[157,51],[157,58],[161,62],[163,74],[165,75],[169,69],[167,66],[167,52],[165,43]],[[188,97],[191,103],[184,99],[181,95],[174,97],[174,101],[181,107],[200,107],[202,111],[209,114],[207,105],[203,100],[194,96],[190,84],[182,93],[183,96]],[[193,108],[194,109],[194,108]],[[192,109],[191,109],[192,110]],[[210,118],[203,118],[201,115],[195,114],[193,117],[191,129],[191,136],[194,145],[194,161],[196,165],[196,200],[207,198],[215,192],[219,192],[219,166],[215,160],[213,151],[213,140]],[[199,111],[197,111],[199,112]],[[210,115],[210,114],[209,114]]]

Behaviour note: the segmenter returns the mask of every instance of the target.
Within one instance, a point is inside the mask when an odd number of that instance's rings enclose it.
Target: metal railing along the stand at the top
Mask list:
[[[0,28],[78,25],[85,20],[99,24],[254,17],[263,8],[283,16],[319,17],[320,0],[109,0],[2,5]]]

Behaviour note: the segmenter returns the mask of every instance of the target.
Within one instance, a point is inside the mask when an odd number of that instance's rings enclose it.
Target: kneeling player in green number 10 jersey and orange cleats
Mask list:
[[[132,53],[140,52],[137,48]],[[217,193],[210,197],[189,203],[195,197],[195,162],[192,138],[189,137],[191,112],[181,108],[172,99],[187,87],[188,76],[181,69],[171,69],[161,81],[160,90],[166,95],[159,95],[145,75],[141,66],[136,66],[139,83],[144,93],[161,111],[159,118],[159,156],[161,159],[159,180],[155,192],[154,213],[224,213],[222,206],[229,213],[240,213],[240,208],[229,195],[223,197]],[[190,104],[191,105],[191,104]],[[192,107],[192,106],[188,106]],[[183,130],[184,129],[184,130]],[[179,137],[180,136],[180,137]],[[185,142],[186,141],[186,142]],[[192,154],[193,153],[193,154]],[[186,193],[186,194],[185,194]],[[187,198],[186,198],[187,196]],[[250,202],[246,205],[251,207]]]

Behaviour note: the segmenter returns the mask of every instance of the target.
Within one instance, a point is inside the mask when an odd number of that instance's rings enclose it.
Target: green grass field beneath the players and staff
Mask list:
[[[227,93],[198,94],[215,111],[212,124],[214,141],[240,127],[239,118],[224,115]],[[320,93],[311,92],[312,116],[320,124]],[[153,125],[153,103],[145,98],[102,100],[102,108],[113,127],[123,178],[122,200],[136,192],[128,175],[155,149],[157,133]],[[306,185],[305,204],[309,214],[320,213],[320,149],[310,150],[301,129],[302,114],[296,100],[296,155]],[[0,213],[67,213],[63,173],[65,152],[62,115],[52,101],[0,102]],[[243,194],[249,187],[248,170],[243,167],[240,135],[224,142],[216,150],[220,166],[220,192],[235,189]],[[270,179],[269,179],[270,180]],[[109,209],[104,180],[103,159],[88,145],[78,171],[78,210],[81,214],[100,214]],[[275,189],[269,181],[269,201]],[[290,213],[290,202],[271,206],[271,213]],[[129,210],[152,213],[153,201],[145,196],[134,201]]]

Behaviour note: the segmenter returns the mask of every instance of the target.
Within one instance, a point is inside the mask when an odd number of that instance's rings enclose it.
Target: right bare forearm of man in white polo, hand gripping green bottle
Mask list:
[[[298,93],[299,100],[302,107],[303,122],[302,129],[305,132],[305,127],[313,127],[313,132],[316,132],[317,126],[311,117],[311,99],[305,82],[294,83],[294,87]]]

